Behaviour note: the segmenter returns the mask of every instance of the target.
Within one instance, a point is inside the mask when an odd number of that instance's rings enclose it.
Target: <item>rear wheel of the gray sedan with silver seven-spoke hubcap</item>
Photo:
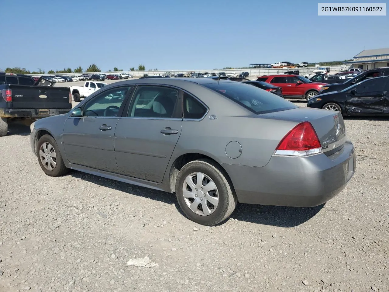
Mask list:
[[[209,159],[184,165],[177,176],[175,193],[184,214],[207,226],[226,220],[238,203],[227,175]]]

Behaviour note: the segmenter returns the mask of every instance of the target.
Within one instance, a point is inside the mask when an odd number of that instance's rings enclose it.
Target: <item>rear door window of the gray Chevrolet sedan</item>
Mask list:
[[[165,86],[139,86],[134,93],[128,117],[173,118],[178,90]]]

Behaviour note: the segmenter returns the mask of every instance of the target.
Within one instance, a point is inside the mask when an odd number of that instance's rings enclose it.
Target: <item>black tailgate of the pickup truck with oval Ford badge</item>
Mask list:
[[[52,86],[13,85],[13,109],[71,109],[69,88]]]

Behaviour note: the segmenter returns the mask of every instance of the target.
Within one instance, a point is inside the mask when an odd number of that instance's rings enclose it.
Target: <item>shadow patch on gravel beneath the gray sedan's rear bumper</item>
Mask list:
[[[323,207],[324,204],[312,208],[238,204],[231,217],[261,225],[295,227],[307,222]]]

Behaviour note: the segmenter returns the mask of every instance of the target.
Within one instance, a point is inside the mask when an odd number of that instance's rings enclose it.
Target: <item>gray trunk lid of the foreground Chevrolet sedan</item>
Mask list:
[[[342,114],[338,111],[298,107],[262,115],[282,120],[309,121],[319,137],[323,152],[326,153],[333,150],[328,154],[337,151],[346,141],[345,124]]]

